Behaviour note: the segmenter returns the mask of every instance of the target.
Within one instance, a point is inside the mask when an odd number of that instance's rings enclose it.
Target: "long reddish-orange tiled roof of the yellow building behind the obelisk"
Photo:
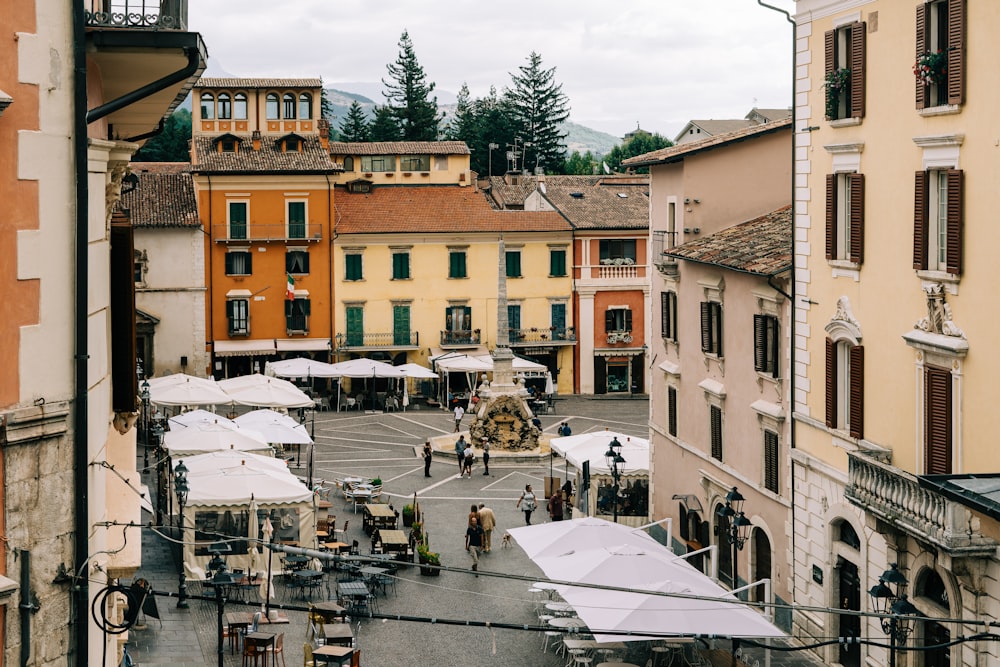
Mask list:
[[[375,186],[336,191],[337,234],[570,231],[555,211],[495,211],[481,192],[458,186]]]

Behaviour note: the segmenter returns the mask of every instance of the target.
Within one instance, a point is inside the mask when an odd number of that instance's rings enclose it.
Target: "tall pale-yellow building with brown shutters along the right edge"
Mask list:
[[[921,618],[899,661],[996,664],[948,647],[1000,601],[996,3],[798,0],[795,599],[876,611],[896,564]],[[893,577],[895,576],[893,575]],[[882,589],[879,589],[882,590]],[[884,599],[884,598],[883,598]],[[965,622],[946,620],[963,619]],[[873,618],[796,632],[889,643]],[[820,649],[844,665],[878,646]]]

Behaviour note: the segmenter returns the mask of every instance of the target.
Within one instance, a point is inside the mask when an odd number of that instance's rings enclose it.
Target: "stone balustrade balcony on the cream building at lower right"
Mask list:
[[[952,556],[989,556],[997,543],[983,535],[979,518],[961,503],[921,486],[920,478],[858,452],[848,452],[846,497],[913,537]]]

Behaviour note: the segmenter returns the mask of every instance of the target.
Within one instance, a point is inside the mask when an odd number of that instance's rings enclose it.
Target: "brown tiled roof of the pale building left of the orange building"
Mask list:
[[[188,162],[133,162],[139,186],[122,195],[136,227],[200,227]]]

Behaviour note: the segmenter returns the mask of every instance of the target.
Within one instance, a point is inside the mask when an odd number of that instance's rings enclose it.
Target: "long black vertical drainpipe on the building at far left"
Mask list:
[[[87,583],[89,566],[86,565],[90,534],[90,489],[87,488],[87,292],[89,291],[87,257],[87,229],[89,197],[87,188],[87,52],[82,2],[72,3],[73,21],[73,163],[76,171],[76,294],[74,298],[74,389],[73,389],[73,496],[74,509],[74,569],[84,575],[76,579],[73,589],[76,599],[71,601],[75,613],[70,613],[73,632],[76,633],[75,664],[86,665],[90,644],[87,636],[90,588]],[[25,591],[22,590],[22,595]],[[72,633],[71,633],[72,634]],[[69,663],[72,665],[72,658]]]

